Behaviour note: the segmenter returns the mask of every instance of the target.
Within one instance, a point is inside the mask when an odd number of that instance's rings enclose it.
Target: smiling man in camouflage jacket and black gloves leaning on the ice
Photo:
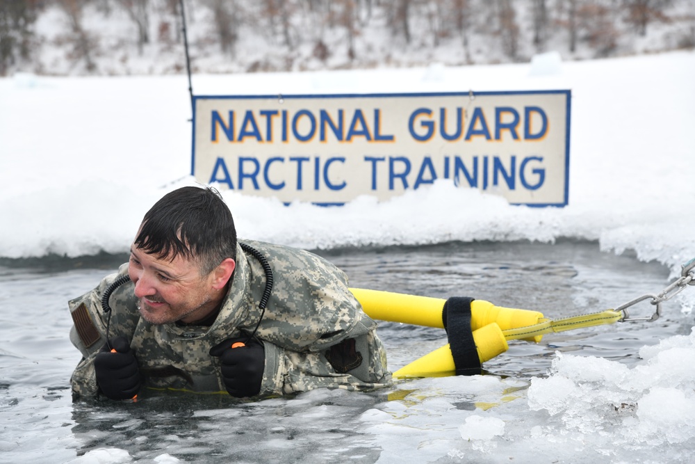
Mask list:
[[[83,355],[74,399],[131,399],[143,387],[264,397],[391,381],[376,323],[345,273],[304,250],[238,242],[213,189],[165,195],[130,252],[117,274],[70,301],[70,339]]]

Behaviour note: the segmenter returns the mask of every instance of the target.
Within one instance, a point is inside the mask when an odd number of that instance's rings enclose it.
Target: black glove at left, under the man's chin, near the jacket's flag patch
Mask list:
[[[94,358],[99,389],[111,399],[131,399],[140,390],[140,370],[135,351],[130,349],[125,337],[111,340],[111,348],[104,344]]]

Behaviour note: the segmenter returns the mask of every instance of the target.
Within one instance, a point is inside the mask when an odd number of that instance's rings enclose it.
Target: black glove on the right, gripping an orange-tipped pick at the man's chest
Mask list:
[[[245,346],[232,348],[236,342]],[[247,337],[231,338],[213,346],[210,355],[219,356],[222,362],[222,380],[227,392],[236,398],[253,397],[261,392],[265,349],[263,344]]]

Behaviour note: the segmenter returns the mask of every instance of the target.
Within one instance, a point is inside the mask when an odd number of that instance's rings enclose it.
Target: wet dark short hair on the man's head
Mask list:
[[[236,228],[218,191],[182,187],[147,211],[135,245],[158,259],[195,259],[207,275],[224,259],[236,261]]]

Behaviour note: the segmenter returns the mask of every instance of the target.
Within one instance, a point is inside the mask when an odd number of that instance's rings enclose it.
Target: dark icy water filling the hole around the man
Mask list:
[[[583,241],[444,243],[318,253],[344,269],[352,287],[439,298],[473,296],[538,310],[550,318],[617,307],[669,284],[663,266],[638,262],[630,254],[601,253],[596,243]],[[66,301],[95,287],[124,258],[0,262],[0,462],[99,462],[94,460],[98,449],[106,456],[102,462],[397,460],[373,433],[364,432],[359,418],[384,401],[411,394],[407,381],[379,392],[318,391],[258,403],[167,394],[138,403],[72,404],[68,381],[80,355],[68,339],[72,320]],[[635,310],[645,315],[651,311],[648,303]],[[639,347],[686,335],[693,325],[692,315],[667,302],[655,323],[546,335],[540,344],[510,342],[509,351],[486,362],[484,369],[487,375],[528,383],[532,376],[546,375],[555,351],[633,365]],[[392,370],[446,343],[443,330],[399,323],[380,323],[379,335]],[[457,401],[463,405],[459,409],[475,409],[475,397]],[[576,457],[578,462],[596,461],[590,451]]]

